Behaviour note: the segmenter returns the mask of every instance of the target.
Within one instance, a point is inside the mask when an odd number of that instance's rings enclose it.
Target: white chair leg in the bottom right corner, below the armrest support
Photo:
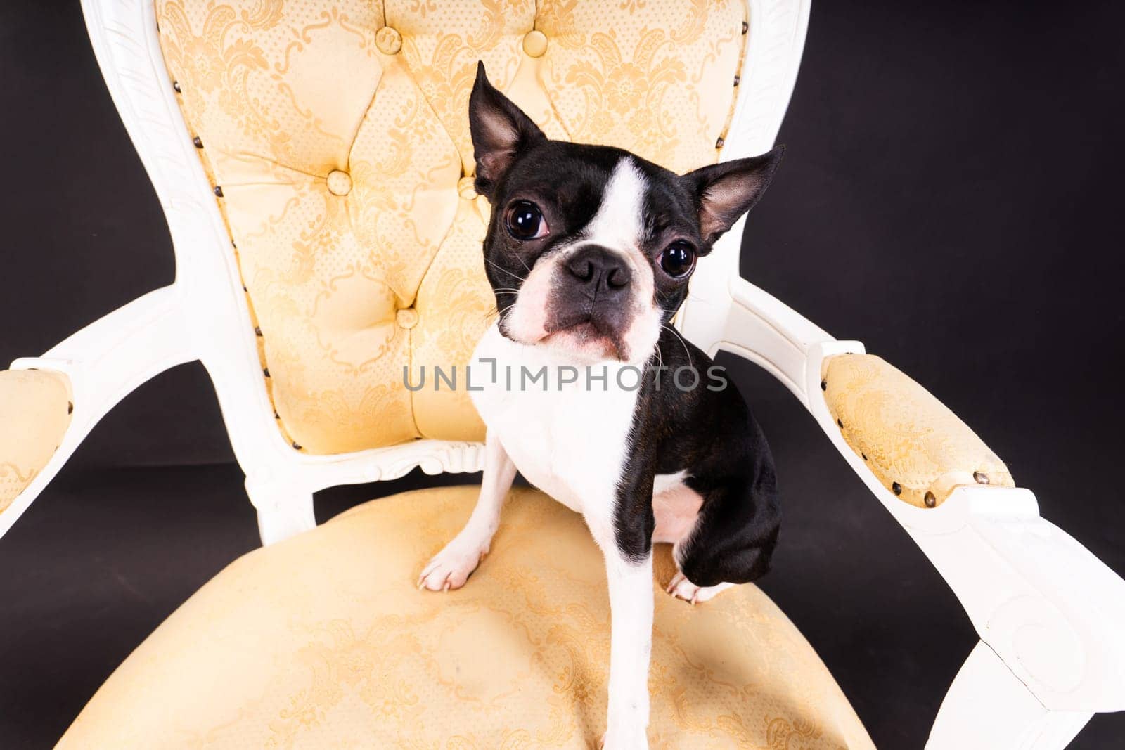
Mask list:
[[[953,679],[927,750],[1060,750],[1092,714],[1048,711],[983,642]]]

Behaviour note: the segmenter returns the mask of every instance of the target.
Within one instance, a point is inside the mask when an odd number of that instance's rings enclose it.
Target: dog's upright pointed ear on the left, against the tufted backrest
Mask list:
[[[469,132],[477,162],[477,192],[489,200],[520,152],[547,139],[530,117],[488,82],[484,63],[477,63],[469,97]]]

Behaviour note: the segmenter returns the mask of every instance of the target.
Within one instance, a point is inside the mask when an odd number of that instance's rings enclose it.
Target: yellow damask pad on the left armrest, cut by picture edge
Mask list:
[[[70,379],[61,372],[0,372],[0,513],[54,455],[71,410]]]

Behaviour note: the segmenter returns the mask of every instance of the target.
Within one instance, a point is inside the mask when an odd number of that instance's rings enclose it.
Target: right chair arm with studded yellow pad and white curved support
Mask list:
[[[1041,518],[1035,496],[921,386],[878,356],[827,349],[810,352],[824,396],[810,410],[981,641],[1048,711],[1125,710],[1125,581]]]

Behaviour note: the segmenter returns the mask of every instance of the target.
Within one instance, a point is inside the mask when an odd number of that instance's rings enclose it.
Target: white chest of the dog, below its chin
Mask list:
[[[612,503],[626,460],[639,371],[574,365],[496,326],[471,361],[472,403],[516,469],[574,510]]]

